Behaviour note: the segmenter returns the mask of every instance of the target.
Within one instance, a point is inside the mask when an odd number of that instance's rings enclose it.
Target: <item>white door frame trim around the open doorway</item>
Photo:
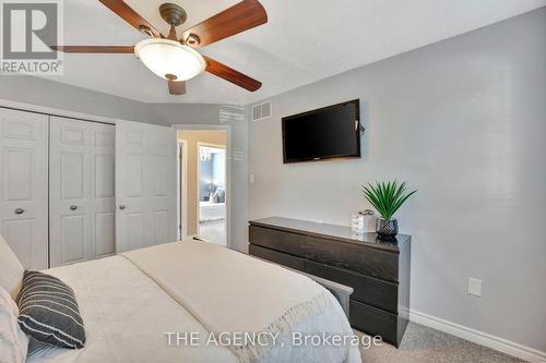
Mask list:
[[[225,131],[226,132],[226,246],[232,249],[232,126],[228,124],[174,124],[173,128],[178,132],[181,130],[186,131]],[[198,164],[199,168],[199,164]],[[198,184],[199,185],[199,184]],[[186,187],[187,189],[187,185]],[[198,189],[199,191],[199,189]],[[187,193],[187,191],[186,191]],[[199,198],[198,198],[199,199]],[[198,218],[199,223],[199,218]],[[198,226],[199,231],[199,226]]]

